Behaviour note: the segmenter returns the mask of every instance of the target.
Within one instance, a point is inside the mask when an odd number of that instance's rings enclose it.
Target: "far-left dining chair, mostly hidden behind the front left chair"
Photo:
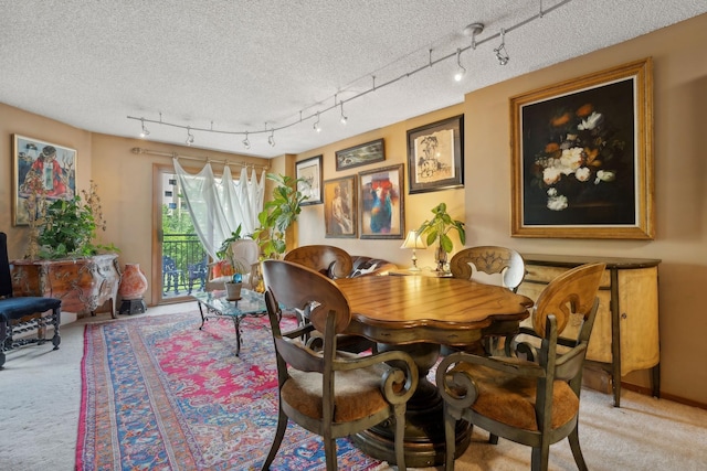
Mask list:
[[[346,278],[354,269],[351,256],[342,248],[333,245],[303,245],[285,254],[284,259],[312,268],[331,279]],[[300,323],[307,322],[302,312],[295,312]],[[376,347],[374,342],[358,335],[342,335],[338,343],[340,350],[354,353]]]

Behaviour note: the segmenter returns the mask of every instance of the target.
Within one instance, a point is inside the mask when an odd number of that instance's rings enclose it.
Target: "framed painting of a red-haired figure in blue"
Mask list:
[[[404,238],[402,168],[359,172],[361,238]]]

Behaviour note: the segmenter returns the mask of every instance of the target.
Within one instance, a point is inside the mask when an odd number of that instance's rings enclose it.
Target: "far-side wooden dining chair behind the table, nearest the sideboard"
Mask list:
[[[484,245],[469,247],[457,251],[450,261],[450,270],[452,276],[462,279],[473,279],[479,282],[488,283],[490,277],[498,277],[498,285],[502,285],[513,292],[518,290],[518,286],[526,276],[526,265],[520,254],[513,248],[500,247],[495,245]],[[479,272],[485,274],[485,278],[479,279]],[[502,339],[506,333],[498,332],[488,334],[481,341],[466,347],[456,347],[454,350],[464,350],[472,353],[486,352],[493,355],[499,349]],[[451,349],[445,347],[443,352],[446,354]]]

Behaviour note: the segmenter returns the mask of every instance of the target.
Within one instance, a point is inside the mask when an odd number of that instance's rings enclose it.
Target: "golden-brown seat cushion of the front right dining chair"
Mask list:
[[[468,373],[478,387],[478,397],[472,405],[474,411],[510,427],[539,430],[535,413],[536,378],[519,377],[469,363],[454,368],[460,370]],[[552,429],[567,424],[578,411],[579,397],[566,382],[556,381],[552,389]]]

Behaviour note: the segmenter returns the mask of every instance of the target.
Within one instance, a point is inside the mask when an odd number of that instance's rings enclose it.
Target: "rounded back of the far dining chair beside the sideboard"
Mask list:
[[[525,261],[513,248],[492,245],[465,248],[454,254],[450,269],[455,278],[471,279],[474,275],[472,265],[477,271],[502,275],[503,286],[514,292],[526,276]]]

